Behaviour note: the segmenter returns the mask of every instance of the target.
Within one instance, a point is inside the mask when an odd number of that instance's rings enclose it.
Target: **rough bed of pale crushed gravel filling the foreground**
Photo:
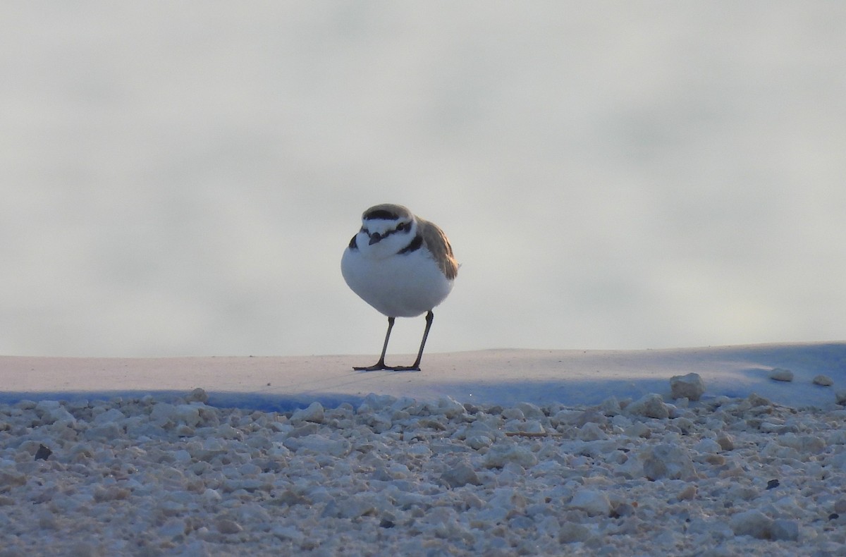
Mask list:
[[[846,411],[0,405],[0,555],[843,555]]]

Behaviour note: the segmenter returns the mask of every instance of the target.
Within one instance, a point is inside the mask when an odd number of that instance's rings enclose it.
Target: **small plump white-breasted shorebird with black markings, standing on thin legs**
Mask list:
[[[420,371],[420,359],[434,315],[431,309],[453,290],[459,264],[447,235],[436,224],[406,207],[385,203],[361,215],[361,229],[349,240],[341,258],[341,273],[349,288],[362,300],[387,316],[382,356],[360,371],[386,369]],[[395,317],[416,317],[426,312],[426,329],[415,363],[386,366],[387,341]]]

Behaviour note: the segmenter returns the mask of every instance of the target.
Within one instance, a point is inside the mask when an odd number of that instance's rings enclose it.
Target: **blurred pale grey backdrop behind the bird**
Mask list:
[[[462,263],[431,351],[844,339],[844,28],[816,1],[8,5],[0,353],[377,354],[339,263],[381,202]]]

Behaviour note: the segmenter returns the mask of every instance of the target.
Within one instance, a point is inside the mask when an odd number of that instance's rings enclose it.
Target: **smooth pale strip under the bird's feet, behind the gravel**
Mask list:
[[[184,393],[201,387],[211,402],[302,405],[360,400],[366,394],[462,402],[596,404],[669,393],[669,378],[699,373],[705,397],[755,392],[785,405],[828,405],[846,383],[846,343],[749,345],[676,350],[481,350],[427,354],[422,372],[354,372],[375,356],[54,358],[0,356],[0,396]],[[411,356],[391,355],[388,363]],[[773,381],[775,367],[794,381]],[[811,383],[817,374],[832,387]],[[239,402],[240,400],[240,402]],[[246,403],[250,405],[249,402]]]

